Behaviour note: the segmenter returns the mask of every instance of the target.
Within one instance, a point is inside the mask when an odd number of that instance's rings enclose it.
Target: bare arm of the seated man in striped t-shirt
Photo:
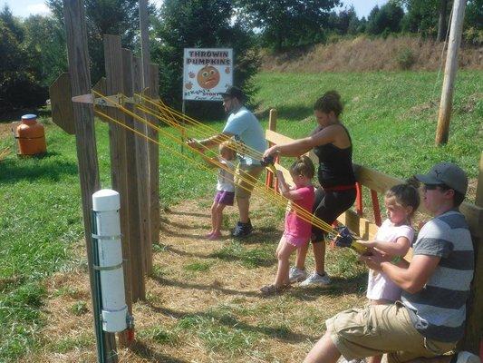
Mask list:
[[[394,265],[377,250],[373,251],[372,256],[362,256],[360,259],[370,269],[384,272],[392,282],[411,294],[424,288],[441,260],[439,256],[415,255],[410,263],[401,261]]]

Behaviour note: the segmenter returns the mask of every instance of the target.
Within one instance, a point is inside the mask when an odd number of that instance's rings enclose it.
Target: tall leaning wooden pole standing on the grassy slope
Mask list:
[[[466,0],[454,0],[453,16],[449,31],[448,54],[444,69],[444,81],[441,92],[440,114],[438,115],[438,128],[436,130],[436,144],[448,142],[449,120],[451,118],[451,105],[453,101],[453,88],[458,69],[458,51],[461,44],[463,30],[463,17],[465,15]]]

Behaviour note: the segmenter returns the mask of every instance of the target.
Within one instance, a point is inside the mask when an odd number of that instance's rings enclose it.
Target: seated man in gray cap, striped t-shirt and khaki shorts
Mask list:
[[[401,301],[350,309],[328,319],[324,337],[304,362],[335,363],[341,355],[351,360],[387,353],[390,363],[416,358],[479,363],[478,356],[466,351],[442,357],[463,337],[474,271],[473,243],[459,212],[468,189],[466,172],[440,162],[415,177],[423,184],[423,202],[434,218],[413,243],[411,262],[392,263],[377,250],[361,258],[401,287]]]

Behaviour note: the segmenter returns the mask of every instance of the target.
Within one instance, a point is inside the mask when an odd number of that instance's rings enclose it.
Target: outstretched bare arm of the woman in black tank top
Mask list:
[[[274,145],[264,152],[264,157],[275,155],[277,153],[283,156],[299,156],[313,149],[315,146],[334,142],[340,132],[342,132],[342,130],[338,125],[327,126],[321,131],[305,137],[304,139]]]

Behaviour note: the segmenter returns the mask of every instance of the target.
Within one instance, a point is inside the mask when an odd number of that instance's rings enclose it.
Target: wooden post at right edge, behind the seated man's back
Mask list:
[[[478,355],[478,349],[483,347],[483,153],[479,158],[479,173],[477,185],[477,198],[479,207],[479,233],[473,233],[473,248],[475,250],[475,276],[471,283],[471,298],[468,304],[465,338],[461,347]]]

